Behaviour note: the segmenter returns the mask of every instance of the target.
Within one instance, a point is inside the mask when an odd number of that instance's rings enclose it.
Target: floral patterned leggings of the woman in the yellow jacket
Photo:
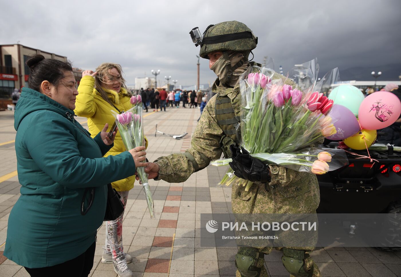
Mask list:
[[[128,191],[117,191],[121,196],[120,200],[125,206],[127,204]],[[122,213],[116,220],[107,221],[106,225],[106,240],[105,240],[105,253],[111,253],[113,257],[113,264],[120,271],[127,268],[127,263],[123,250],[123,215]]]

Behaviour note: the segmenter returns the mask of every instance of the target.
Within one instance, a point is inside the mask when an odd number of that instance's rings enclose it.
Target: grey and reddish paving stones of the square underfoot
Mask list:
[[[150,110],[151,111],[151,110]],[[145,135],[149,140],[147,158],[184,152],[196,127],[199,109],[168,108],[167,112],[144,113]],[[85,122],[85,118],[78,118]],[[7,220],[19,197],[12,111],[0,111],[0,277],[29,276],[25,269],[2,255],[6,241]],[[182,140],[157,134],[188,132]],[[83,124],[87,127],[86,124]],[[150,180],[156,218],[150,219],[141,187],[130,191],[124,214],[124,250],[134,259],[129,265],[134,276],[190,277],[234,276],[236,248],[201,247],[201,213],[231,212],[231,188],[216,188],[225,168],[209,166],[179,184]],[[91,275],[115,277],[113,266],[102,264],[101,253],[105,226],[98,230],[97,247]],[[323,276],[391,277],[401,276],[401,252],[384,252],[374,248],[318,248],[312,254]],[[281,253],[265,256],[269,276],[289,276],[281,263]]]

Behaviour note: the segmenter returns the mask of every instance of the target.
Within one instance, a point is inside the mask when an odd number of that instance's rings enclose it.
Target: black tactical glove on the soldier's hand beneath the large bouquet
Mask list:
[[[229,162],[229,165],[234,170],[235,176],[251,182],[270,182],[270,175],[267,171],[267,166],[263,164],[261,160],[253,158],[243,147],[241,147],[242,154],[239,153],[237,156],[234,156],[235,149],[233,148],[235,147],[231,148],[230,146],[230,149],[233,152],[233,161]]]

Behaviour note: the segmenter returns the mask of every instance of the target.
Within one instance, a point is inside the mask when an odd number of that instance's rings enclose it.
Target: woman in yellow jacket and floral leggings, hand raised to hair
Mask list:
[[[132,108],[130,103],[132,95],[126,89],[126,81],[122,74],[121,66],[114,63],[102,63],[97,67],[96,72],[86,70],[82,73],[74,112],[76,115],[88,118],[89,132],[93,134],[92,137],[103,129],[106,122],[109,123],[109,128],[111,128],[114,117],[110,110],[119,113]],[[146,140],[146,147],[147,144]],[[121,135],[117,132],[114,146],[105,157],[117,155],[124,151],[126,149]],[[134,181],[135,176],[130,176],[111,183],[121,196],[120,199],[124,207],[127,202],[128,191],[134,187]],[[123,214],[116,220],[107,222],[106,241],[101,261],[102,263],[113,263],[118,276],[126,277],[132,276],[132,272],[127,266],[127,263],[132,261],[132,257],[123,251],[122,222]]]

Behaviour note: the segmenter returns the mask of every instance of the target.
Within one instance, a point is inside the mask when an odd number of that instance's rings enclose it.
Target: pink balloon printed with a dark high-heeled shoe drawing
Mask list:
[[[368,95],[360,104],[359,124],[363,129],[377,130],[393,124],[401,114],[401,102],[388,91]]]

